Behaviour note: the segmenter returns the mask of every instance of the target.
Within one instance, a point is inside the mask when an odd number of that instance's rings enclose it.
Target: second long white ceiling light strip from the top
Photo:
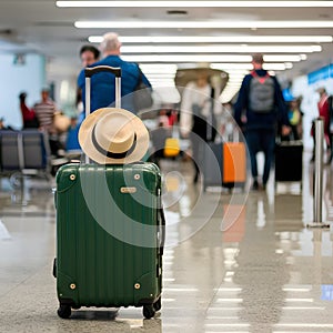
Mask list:
[[[155,3],[155,2],[154,2]],[[333,28],[333,21],[75,21],[89,29],[244,29],[244,28]]]

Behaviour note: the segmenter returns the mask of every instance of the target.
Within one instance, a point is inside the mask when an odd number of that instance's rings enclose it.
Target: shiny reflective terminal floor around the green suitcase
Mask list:
[[[57,315],[54,180],[1,180],[0,332],[333,332],[333,233],[313,220],[313,165],[303,184],[232,192],[192,183],[192,164],[165,160],[162,309],[80,309]],[[324,220],[333,213],[324,170]],[[176,195],[173,195],[174,193]],[[179,194],[180,193],[180,194]]]

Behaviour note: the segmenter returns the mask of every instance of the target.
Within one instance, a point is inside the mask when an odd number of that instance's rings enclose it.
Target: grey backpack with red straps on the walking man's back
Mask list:
[[[256,113],[270,113],[274,111],[274,80],[269,73],[259,77],[255,71],[251,72],[249,107]]]

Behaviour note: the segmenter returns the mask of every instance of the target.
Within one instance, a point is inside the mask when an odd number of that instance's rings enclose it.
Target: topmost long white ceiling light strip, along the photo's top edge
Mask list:
[[[57,1],[57,7],[95,8],[306,8],[333,7],[333,1]]]

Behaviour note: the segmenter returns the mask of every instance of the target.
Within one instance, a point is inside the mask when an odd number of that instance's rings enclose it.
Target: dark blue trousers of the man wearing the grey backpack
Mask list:
[[[254,180],[258,179],[256,154],[260,151],[264,153],[265,162],[262,182],[263,184],[266,184],[274,157],[275,132],[273,129],[248,130],[245,139],[250,153],[251,172]]]

